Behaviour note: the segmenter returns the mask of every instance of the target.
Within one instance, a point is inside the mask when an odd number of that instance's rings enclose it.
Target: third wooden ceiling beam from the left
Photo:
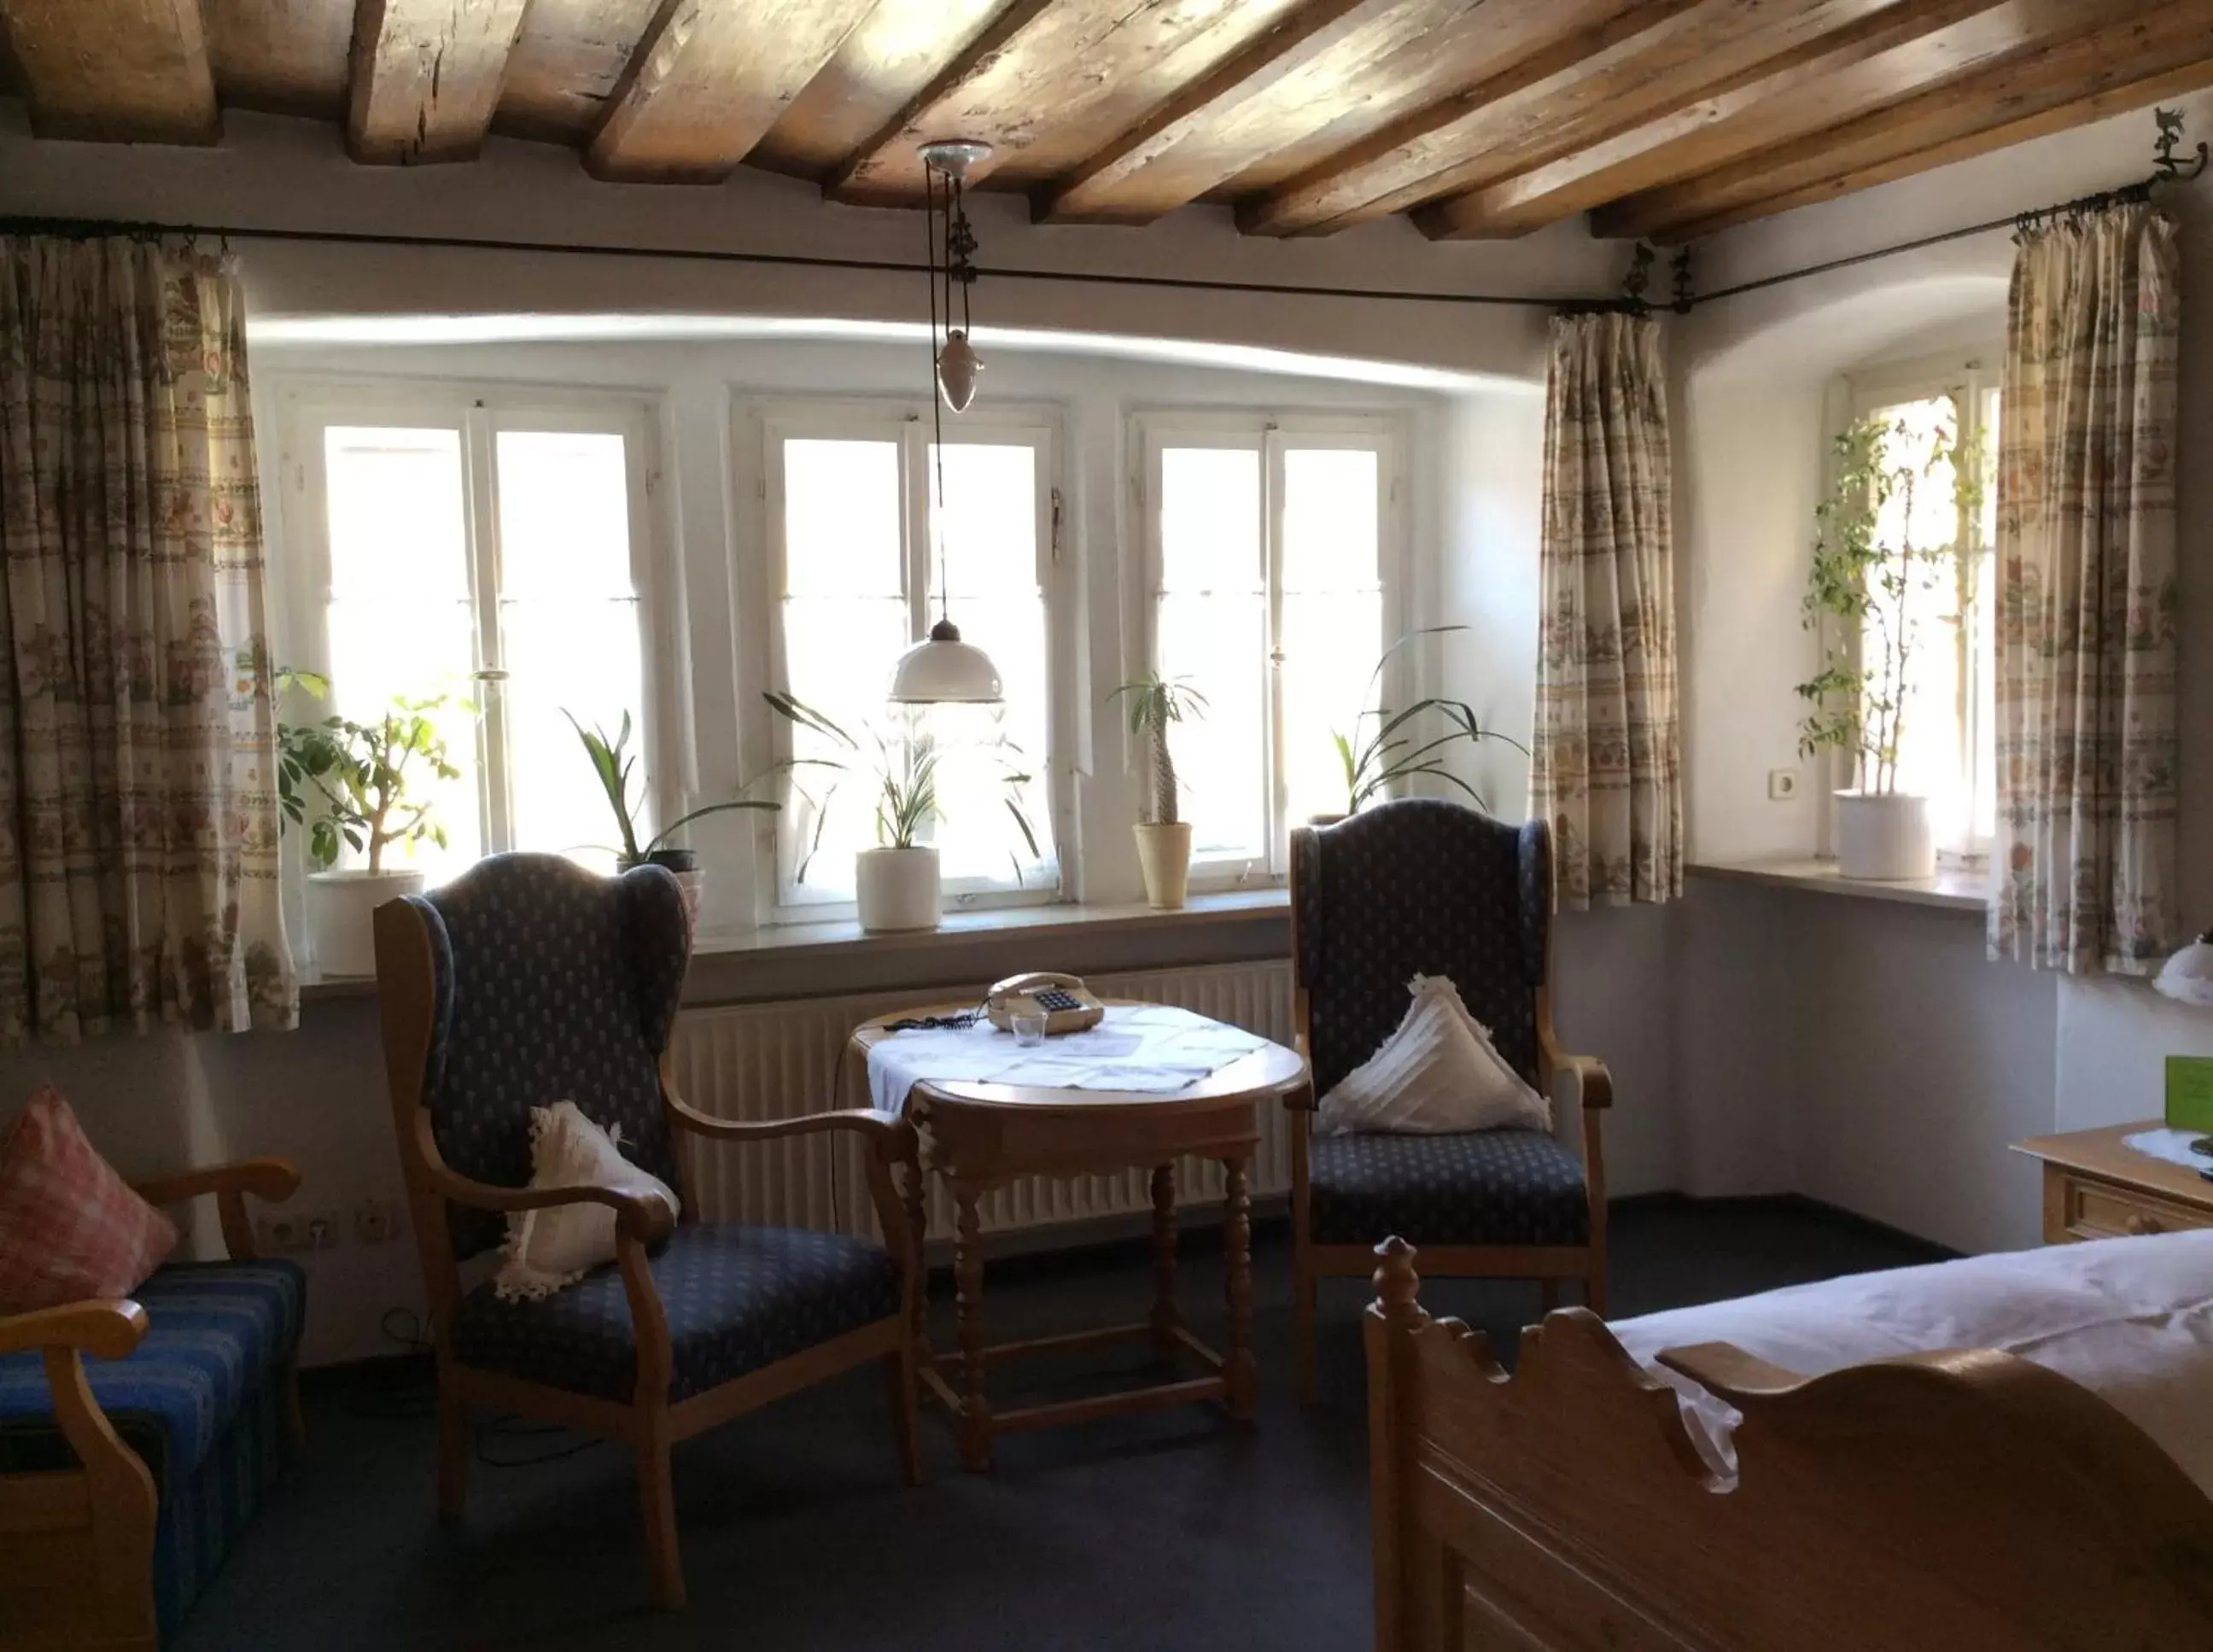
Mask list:
[[[668,0],[584,150],[593,177],[719,184],[874,0]]]

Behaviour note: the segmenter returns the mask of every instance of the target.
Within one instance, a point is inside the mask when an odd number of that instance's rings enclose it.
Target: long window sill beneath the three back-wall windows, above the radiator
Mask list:
[[[978,944],[994,940],[1069,947],[1111,935],[1142,938],[1149,933],[1160,935],[1191,927],[1284,922],[1288,916],[1288,889],[1233,889],[1219,893],[1195,893],[1186,907],[1175,911],[1160,911],[1142,902],[1053,902],[1045,907],[949,911],[938,920],[936,929],[907,929],[881,935],[870,935],[852,920],[821,924],[761,924],[757,929],[704,929],[693,940],[695,980],[686,986],[686,1000],[693,1000],[697,989],[710,1000],[721,1002],[728,993],[719,991],[719,984],[708,977],[724,975],[728,969],[744,969],[748,960],[770,966],[779,973],[779,977],[783,977],[786,966],[806,964],[810,960],[825,964],[861,964],[863,960],[883,960],[894,971],[901,969],[898,960],[907,960],[918,975],[934,977],[943,973],[943,969],[932,969],[927,960],[932,953],[941,953],[947,964],[956,966],[954,973],[965,977],[967,971],[958,966],[958,960],[974,953]],[[1253,944],[1259,944],[1259,938],[1255,938]],[[301,1002],[308,1004],[334,997],[372,997],[374,993],[374,975],[301,980],[299,989]],[[757,993],[746,991],[744,995],[752,997]]]

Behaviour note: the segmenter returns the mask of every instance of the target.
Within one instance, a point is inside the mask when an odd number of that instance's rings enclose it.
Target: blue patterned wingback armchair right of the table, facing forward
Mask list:
[[[1445,798],[1301,827],[1290,838],[1290,924],[1315,1073],[1292,1119],[1299,1391],[1315,1384],[1317,1280],[1365,1278],[1392,1234],[1421,1247],[1423,1274],[1538,1278],[1547,1305],[1560,1278],[1580,1278],[1604,1311],[1598,1117],[1613,1090],[1600,1062],[1562,1055],[1551,1033],[1551,829]],[[1573,1073],[1580,1141],[1558,1097],[1554,1135],[1315,1135],[1306,1108],[1392,1035],[1414,975],[1447,975],[1540,1092]]]

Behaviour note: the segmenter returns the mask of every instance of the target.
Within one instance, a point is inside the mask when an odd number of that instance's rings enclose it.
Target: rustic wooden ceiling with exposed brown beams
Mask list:
[[[976,186],[1042,221],[1217,201],[1248,234],[1671,243],[2202,86],[2213,0],[0,0],[42,137],[263,108],[367,166],[507,133],[874,206],[983,137]]]

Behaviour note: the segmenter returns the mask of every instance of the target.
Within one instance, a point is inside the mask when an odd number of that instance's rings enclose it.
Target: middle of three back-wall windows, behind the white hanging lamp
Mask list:
[[[929,425],[907,409],[852,407],[772,414],[763,433],[777,599],[770,686],[859,747],[777,719],[775,750],[790,765],[777,905],[852,900],[854,856],[879,843],[876,763],[896,761],[910,741],[929,741],[938,756],[938,809],[923,840],[938,849],[945,891],[1058,893],[1049,427],[969,414],[938,451]],[[1000,705],[887,705],[892,668],[938,619],[941,593],[963,639],[998,666]]]

